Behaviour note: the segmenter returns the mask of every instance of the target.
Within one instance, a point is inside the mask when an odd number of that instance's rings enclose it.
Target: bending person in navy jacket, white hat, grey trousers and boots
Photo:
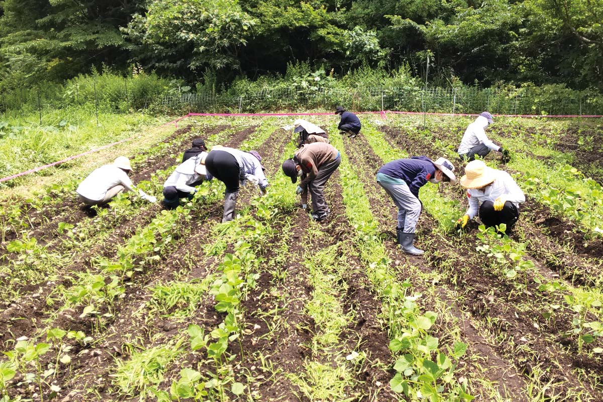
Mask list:
[[[422,204],[418,191],[427,182],[454,184],[454,166],[445,158],[432,162],[426,156],[413,156],[386,163],[377,172],[377,183],[398,207],[397,242],[407,254],[420,256],[425,251],[414,246],[415,228]]]

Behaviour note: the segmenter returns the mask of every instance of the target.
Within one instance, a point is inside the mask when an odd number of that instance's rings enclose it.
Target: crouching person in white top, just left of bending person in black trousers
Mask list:
[[[186,159],[163,183],[163,205],[166,208],[174,209],[180,205],[181,198],[192,199],[197,192],[195,186],[212,179],[205,168],[207,155],[207,152],[200,152]]]

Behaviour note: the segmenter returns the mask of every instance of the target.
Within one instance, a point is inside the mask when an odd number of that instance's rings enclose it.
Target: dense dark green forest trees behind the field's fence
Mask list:
[[[230,84],[304,61],[435,84],[603,89],[603,0],[5,0],[4,89],[110,66]]]

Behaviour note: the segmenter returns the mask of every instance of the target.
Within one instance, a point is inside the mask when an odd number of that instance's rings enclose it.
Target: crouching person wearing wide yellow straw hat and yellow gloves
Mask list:
[[[519,204],[525,203],[525,195],[513,177],[505,171],[492,169],[481,160],[467,163],[461,186],[467,189],[469,209],[456,222],[461,229],[479,213],[479,219],[486,227],[507,225],[509,234],[519,219]]]

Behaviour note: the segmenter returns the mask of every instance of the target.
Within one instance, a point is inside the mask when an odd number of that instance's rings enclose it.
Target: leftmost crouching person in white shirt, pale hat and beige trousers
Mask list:
[[[132,172],[130,160],[125,156],[117,157],[111,165],[103,165],[95,169],[77,187],[80,201],[88,206],[109,203],[113,197],[122,191],[132,191],[136,186],[128,174]],[[138,190],[140,198],[154,203],[157,199]]]

